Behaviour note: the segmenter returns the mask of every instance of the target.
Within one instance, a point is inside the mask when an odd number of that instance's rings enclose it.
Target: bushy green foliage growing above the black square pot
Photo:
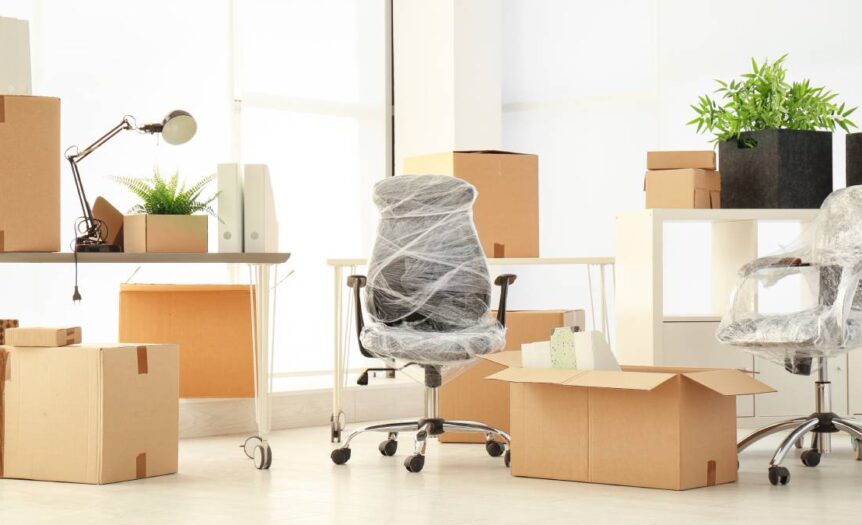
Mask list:
[[[722,103],[703,95],[691,108],[697,116],[688,122],[698,133],[709,131],[713,142],[740,140],[746,131],[766,129],[844,131],[855,128],[849,119],[856,108],[847,108],[835,101],[838,96],[825,87],[815,87],[809,80],[788,83],[784,60],[787,55],[770,63],[758,64],[751,59],[750,73],[740,80],[716,80]],[[743,141],[744,147],[752,146]]]

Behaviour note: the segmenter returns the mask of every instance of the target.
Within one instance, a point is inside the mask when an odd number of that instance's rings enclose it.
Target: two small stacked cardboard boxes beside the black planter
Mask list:
[[[647,152],[644,191],[647,208],[721,208],[715,152]]]

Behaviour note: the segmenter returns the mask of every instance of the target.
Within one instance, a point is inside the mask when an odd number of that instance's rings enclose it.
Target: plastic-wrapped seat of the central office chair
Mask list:
[[[362,345],[378,357],[419,364],[452,365],[502,350],[506,330],[488,318],[469,328],[451,332],[417,330],[409,325],[370,323],[362,329]]]

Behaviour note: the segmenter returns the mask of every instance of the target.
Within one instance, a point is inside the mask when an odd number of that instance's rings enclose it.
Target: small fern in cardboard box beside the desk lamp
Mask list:
[[[202,193],[215,175],[204,177],[190,188],[180,184],[179,173],[170,179],[155,170],[152,178],[114,177],[138,198],[131,213],[123,220],[123,242],[126,252],[206,253],[208,217],[216,216],[211,204],[218,197],[204,198]],[[206,214],[198,214],[205,212]]]

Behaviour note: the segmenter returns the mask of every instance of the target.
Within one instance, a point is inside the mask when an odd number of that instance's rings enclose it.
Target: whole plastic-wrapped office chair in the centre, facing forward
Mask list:
[[[378,182],[374,203],[380,223],[368,276],[351,275],[359,349],[366,357],[406,362],[424,369],[425,415],[350,433],[332,451],[332,461],[350,459],[350,443],[364,432],[383,432],[379,450],[392,456],[399,432],[415,432],[410,472],[425,465],[425,445],[446,431],[485,434],[485,449],[509,465],[509,435],[475,421],[440,417],[439,391],[445,367],[457,367],[505,346],[506,296],[515,276],[504,274],[497,317],[489,315],[491,284],[482,246],[473,225],[476,189],[455,177],[402,175]],[[360,290],[371,318],[366,323]],[[403,367],[402,367],[403,368]],[[502,441],[502,442],[501,442]]]

